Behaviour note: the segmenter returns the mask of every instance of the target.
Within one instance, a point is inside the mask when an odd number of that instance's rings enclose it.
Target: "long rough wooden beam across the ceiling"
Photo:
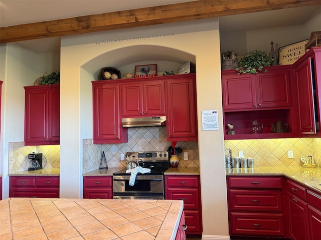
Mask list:
[[[1,27],[0,43],[319,4],[320,0],[196,0]]]

